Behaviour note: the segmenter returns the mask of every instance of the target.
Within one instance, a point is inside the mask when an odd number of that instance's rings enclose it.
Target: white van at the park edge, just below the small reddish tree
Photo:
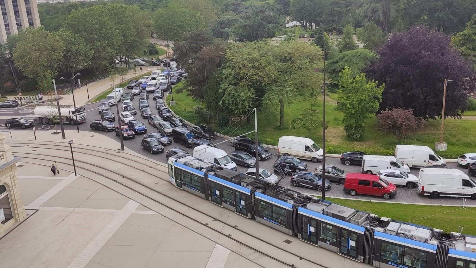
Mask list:
[[[436,155],[428,146],[398,144],[395,147],[395,157],[409,167],[446,165],[445,160],[441,156]]]

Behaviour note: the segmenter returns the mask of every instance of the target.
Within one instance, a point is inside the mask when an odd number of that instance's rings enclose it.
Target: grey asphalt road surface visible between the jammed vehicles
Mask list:
[[[127,88],[124,89],[124,93],[127,93],[127,92],[130,92],[130,90],[128,90]],[[149,95],[152,95],[152,94],[149,94]],[[133,106],[138,111],[138,114],[135,115],[134,117],[147,126],[148,133],[154,132],[154,129],[152,128],[152,125],[148,124],[147,119],[142,118],[142,116],[140,115],[139,105],[138,105],[138,103],[139,103],[138,96],[135,96],[135,98],[132,100],[132,103],[133,103]],[[119,140],[119,137],[117,137],[114,132],[105,133],[103,131],[93,131],[92,129],[90,129],[89,128],[89,123],[93,120],[100,119],[99,112],[98,112],[98,110],[95,109],[95,108],[97,108],[97,103],[86,104],[84,106],[87,110],[87,112],[86,112],[87,122],[79,125],[79,129],[81,131],[90,131],[90,132],[94,132],[96,134],[103,134],[103,135],[109,136],[112,139]],[[151,96],[149,97],[149,107],[151,108],[151,110],[154,113],[157,113],[157,110],[155,108],[155,101],[152,99]],[[119,111],[121,111],[121,108],[122,108],[122,104],[119,103]],[[115,116],[117,116],[116,107],[114,107],[114,106],[111,107],[111,111],[115,114]],[[33,109],[32,108],[28,108],[28,109],[21,109],[21,108],[19,108],[19,109],[0,109],[0,124],[1,124],[0,131],[1,132],[8,132],[9,131],[4,125],[5,120],[7,118],[13,118],[13,117],[23,117],[25,119],[33,119],[34,118]],[[117,124],[117,117],[116,117],[115,124]],[[60,129],[60,126],[57,125],[57,128]],[[76,126],[65,124],[64,128],[67,129],[67,130],[75,130]],[[54,129],[54,127],[53,127],[53,125],[42,125],[41,123],[36,122],[36,129],[37,129],[37,131],[45,131],[45,130],[51,131],[51,129]],[[12,131],[30,131],[30,130],[12,129]],[[137,152],[141,155],[153,158],[153,159],[155,159],[157,161],[160,161],[160,162],[163,162],[163,163],[167,163],[167,160],[165,158],[165,154],[162,153],[162,154],[158,154],[158,155],[151,155],[148,151],[145,151],[145,150],[141,149],[141,147],[140,147],[140,142],[141,142],[141,139],[142,139],[141,136],[142,135],[137,135],[134,139],[124,140],[124,145],[126,147],[128,147],[129,149],[131,149],[131,150],[133,150],[133,151],[135,151],[135,152]],[[219,138],[219,137],[212,140],[212,142],[214,144],[217,144],[221,141],[223,141],[223,139]],[[177,144],[177,143],[174,143],[174,142],[172,142],[171,145],[166,146],[165,150],[167,150],[168,148],[171,148],[171,147],[179,147],[179,148],[185,149],[186,151],[188,151],[190,153],[193,152],[193,150],[191,148],[185,148],[183,145]],[[218,144],[218,145],[216,145],[216,147],[219,148],[219,149],[222,149],[222,150],[224,150],[225,152],[228,152],[228,153],[234,151],[234,148],[231,147],[228,142]],[[113,149],[118,149],[118,148],[113,148]],[[273,154],[277,154],[276,150],[270,149],[270,151]],[[268,159],[266,161],[259,162],[259,167],[267,169],[270,172],[273,172],[273,163],[276,159],[277,159],[277,156],[276,157],[271,157],[270,159]],[[321,165],[321,163],[312,163],[310,161],[305,161],[305,162],[308,165],[309,171],[314,171],[315,167]],[[326,158],[326,164],[327,165],[336,165],[336,166],[338,166],[339,168],[343,169],[346,172],[360,173],[360,166],[357,166],[357,165],[351,165],[351,166],[343,165],[343,164],[340,163],[340,159],[338,159],[338,158],[327,157]],[[458,168],[458,169],[461,169],[464,172],[466,172],[466,169],[463,168],[462,166],[459,166],[458,164],[448,164],[448,167]],[[238,166],[238,171],[239,172],[245,172],[246,168],[244,168],[242,166]],[[410,173],[413,174],[413,175],[418,175],[418,172],[419,172],[419,169],[412,169]],[[282,179],[281,182],[280,182],[280,186],[289,187],[289,188],[295,189],[296,191],[303,192],[303,193],[310,193],[310,194],[317,194],[317,195],[320,194],[320,192],[317,192],[314,189],[302,188],[302,187],[297,188],[297,187],[291,186],[290,185],[290,177],[286,177],[286,178]],[[352,198],[365,199],[365,200],[383,200],[381,197],[374,197],[374,196],[350,196],[350,195],[344,193],[343,190],[342,190],[342,185],[337,184],[337,183],[333,183],[331,189],[329,191],[326,191],[326,195],[327,196],[334,196],[334,197],[352,197]],[[404,202],[404,203],[410,203],[410,204],[422,203],[422,204],[433,204],[433,205],[462,205],[463,204],[463,199],[462,198],[440,197],[437,200],[433,200],[433,199],[430,199],[428,196],[418,195],[416,189],[407,189],[407,188],[404,188],[404,187],[398,187],[397,188],[397,197],[392,199],[391,201]],[[466,205],[476,205],[476,201],[468,199],[466,201]]]

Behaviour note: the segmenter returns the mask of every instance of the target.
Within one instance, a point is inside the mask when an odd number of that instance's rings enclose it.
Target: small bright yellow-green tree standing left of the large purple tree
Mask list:
[[[377,112],[384,85],[377,86],[377,82],[367,81],[365,73],[353,77],[347,66],[340,72],[338,84],[337,110],[344,113],[344,131],[350,140],[361,140],[365,119]]]

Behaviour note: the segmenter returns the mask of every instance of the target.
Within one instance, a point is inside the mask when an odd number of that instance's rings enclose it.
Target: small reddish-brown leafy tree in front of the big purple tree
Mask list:
[[[401,143],[405,143],[407,137],[424,123],[413,115],[412,109],[394,108],[377,115],[378,128],[384,133],[395,135]]]

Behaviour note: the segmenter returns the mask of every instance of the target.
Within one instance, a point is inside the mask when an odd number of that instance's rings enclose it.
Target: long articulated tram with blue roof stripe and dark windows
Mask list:
[[[379,218],[190,155],[168,164],[178,188],[347,258],[379,268],[476,268],[476,237]]]

